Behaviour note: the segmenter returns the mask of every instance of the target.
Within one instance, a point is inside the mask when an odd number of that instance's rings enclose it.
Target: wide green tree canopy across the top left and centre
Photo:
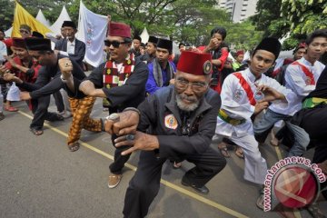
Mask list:
[[[19,2],[34,16],[42,9],[51,23],[65,5],[74,22],[78,21],[80,0]],[[10,6],[7,3],[4,5],[6,23],[1,23],[5,24],[5,29],[13,21],[14,3],[9,3]],[[207,45],[211,30],[220,25],[227,30],[226,41],[233,43],[236,49],[252,48],[263,35],[263,32],[255,30],[251,22],[233,24],[229,14],[215,7],[215,0],[83,0],[83,3],[96,14],[111,15],[113,21],[130,25],[134,35],[140,35],[146,27],[150,35],[170,37],[174,41],[196,46]]]

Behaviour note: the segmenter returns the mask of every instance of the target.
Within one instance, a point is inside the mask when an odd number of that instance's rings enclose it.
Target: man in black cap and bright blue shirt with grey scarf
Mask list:
[[[173,41],[159,39],[156,57],[151,64],[148,64],[149,78],[145,85],[147,94],[154,94],[161,87],[171,84],[171,80],[176,72],[175,65],[168,60],[172,51]]]

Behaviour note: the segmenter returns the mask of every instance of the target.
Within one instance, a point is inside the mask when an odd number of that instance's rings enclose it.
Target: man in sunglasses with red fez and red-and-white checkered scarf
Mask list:
[[[109,60],[99,65],[82,82],[69,72],[62,72],[71,96],[89,95],[104,98],[109,112],[122,112],[127,107],[137,107],[145,98],[148,70],[144,62],[129,54],[132,45],[131,28],[120,23],[109,23],[109,35],[104,41]],[[112,141],[116,135],[112,135]],[[108,187],[114,188],[122,179],[122,169],[130,155],[122,155],[128,146],[116,148],[114,163],[110,164]]]

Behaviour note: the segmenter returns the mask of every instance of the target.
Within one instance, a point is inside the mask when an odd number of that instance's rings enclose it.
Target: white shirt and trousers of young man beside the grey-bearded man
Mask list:
[[[240,73],[243,75],[247,84],[250,85],[253,94],[256,93],[255,84],[265,84],[284,94],[287,102],[274,101],[275,104],[279,104],[283,108],[287,108],[288,102],[291,102],[294,97],[291,90],[286,89],[276,80],[264,74],[262,74],[260,79],[255,80],[250,69],[246,69]],[[265,174],[267,173],[267,163],[259,151],[258,143],[255,141],[253,134],[251,116],[254,113],[254,106],[250,104],[248,95],[240,80],[234,74],[228,75],[224,80],[221,98],[222,109],[228,116],[239,120],[246,119],[246,122],[239,125],[232,125],[218,117],[215,134],[227,136],[233,143],[243,148],[245,157],[244,179],[253,183],[263,184]]]

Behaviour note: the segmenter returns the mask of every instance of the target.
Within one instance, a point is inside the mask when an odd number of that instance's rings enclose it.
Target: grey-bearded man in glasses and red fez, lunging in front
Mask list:
[[[119,114],[119,122],[106,122],[106,131],[121,135],[116,146],[132,145],[123,155],[142,150],[125,195],[124,217],[146,216],[167,159],[193,163],[182,184],[203,194],[209,193],[205,184],[223,170],[225,159],[210,147],[221,105],[219,94],[209,88],[211,74],[211,54],[183,52],[174,85],[148,96],[138,107],[140,115],[126,111]],[[133,133],[134,137],[124,135]]]

